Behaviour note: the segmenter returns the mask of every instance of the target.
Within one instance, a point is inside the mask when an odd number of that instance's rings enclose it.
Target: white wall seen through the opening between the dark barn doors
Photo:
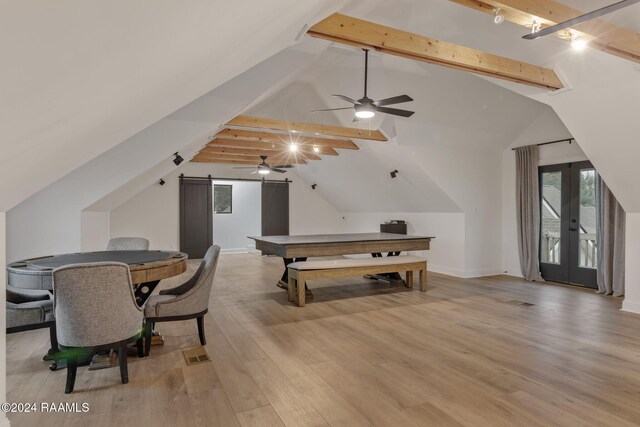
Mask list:
[[[213,214],[213,241],[222,248],[222,252],[255,250],[255,242],[247,236],[262,234],[261,184],[248,181],[213,181],[213,185],[214,192],[216,185],[232,186],[231,213]]]

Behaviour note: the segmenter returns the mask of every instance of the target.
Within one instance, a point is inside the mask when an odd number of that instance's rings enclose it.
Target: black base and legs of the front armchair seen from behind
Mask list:
[[[61,365],[60,362],[64,362],[67,367],[67,383],[64,388],[65,394],[69,394],[73,391],[73,387],[76,382],[76,372],[78,370],[79,364],[87,358],[90,361],[91,356],[101,350],[116,349],[118,351],[118,359],[120,363],[120,379],[122,380],[122,384],[127,384],[129,382],[129,371],[127,368],[127,344],[133,341],[136,341],[138,357],[143,357],[144,349],[142,347],[142,333],[136,334],[133,337],[123,341],[95,347],[65,347],[63,345],[60,345],[59,347],[62,351],[55,355],[55,361],[54,363],[52,363],[52,366],[54,364]]]

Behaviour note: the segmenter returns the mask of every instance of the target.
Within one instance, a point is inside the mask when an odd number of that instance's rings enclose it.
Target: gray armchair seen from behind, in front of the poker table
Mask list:
[[[142,348],[142,309],[136,304],[129,267],[118,262],[71,264],[53,271],[54,313],[61,359],[67,364],[65,393],[75,384],[78,359],[117,349],[122,383],[129,382],[127,344]]]

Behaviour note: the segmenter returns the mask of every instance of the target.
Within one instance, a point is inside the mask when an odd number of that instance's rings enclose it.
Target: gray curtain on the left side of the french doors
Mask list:
[[[540,274],[540,186],[538,147],[516,148],[516,207],[520,269],[527,280],[543,281]]]

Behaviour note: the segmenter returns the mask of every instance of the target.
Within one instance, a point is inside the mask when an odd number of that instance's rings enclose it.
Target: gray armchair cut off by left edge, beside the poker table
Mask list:
[[[49,291],[17,289],[7,285],[7,333],[49,328],[51,349],[44,359],[58,351],[53,297]]]

